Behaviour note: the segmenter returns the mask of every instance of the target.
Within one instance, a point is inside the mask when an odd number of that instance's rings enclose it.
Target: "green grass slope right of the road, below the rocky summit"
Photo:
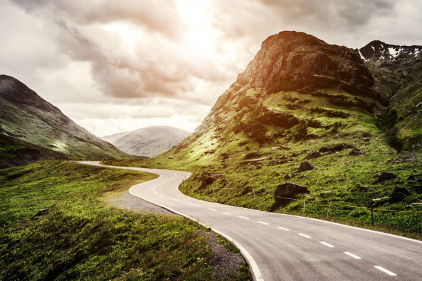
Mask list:
[[[418,213],[422,211],[422,205],[417,205],[422,202],[422,194],[414,189],[422,181],[421,151],[399,153],[388,144],[383,132],[376,127],[373,114],[366,110],[372,101],[333,89],[310,93],[279,92],[250,101],[253,99],[250,93],[245,94],[247,98],[241,98],[241,91],[237,85],[232,86],[232,92],[228,90],[219,98],[225,103],[217,101],[199,130],[169,152],[149,160],[105,163],[191,171],[192,176],[181,190],[183,193],[228,205],[325,219],[331,202],[328,220],[361,227],[372,228],[370,210],[345,205],[401,211],[376,210],[374,227],[422,238],[422,213]],[[239,102],[245,103],[243,109],[238,107]],[[253,119],[252,107],[259,107],[255,103],[270,110],[286,111],[301,124],[290,129],[261,124],[261,129],[266,129],[263,131],[265,141],[248,137],[248,132],[234,134],[234,118],[243,114],[239,117],[242,122]],[[297,106],[289,110],[292,104]],[[321,110],[315,110],[316,107]],[[315,169],[294,174],[308,153],[332,143],[354,145],[363,154],[349,155],[351,148],[325,154],[309,160]],[[246,162],[245,158],[249,156],[268,158]],[[397,178],[376,183],[381,171],[392,171]],[[289,178],[285,178],[286,175]],[[414,179],[410,179],[411,175]],[[288,205],[274,206],[274,191],[281,183],[304,185],[310,194],[297,196],[297,200]],[[374,198],[389,198],[394,187],[408,188],[410,196],[399,202],[372,203]],[[305,214],[303,200],[307,206]],[[408,207],[412,203],[416,204]]]

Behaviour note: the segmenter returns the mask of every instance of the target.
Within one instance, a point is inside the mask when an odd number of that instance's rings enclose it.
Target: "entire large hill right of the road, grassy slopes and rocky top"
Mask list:
[[[395,105],[377,85],[355,50],[281,32],[182,143],[150,160],[106,163],[189,170],[185,194],[265,211],[370,227],[374,207],[377,229],[416,236],[421,149],[401,150],[387,134]],[[385,171],[395,177],[383,180]],[[286,183],[308,191],[274,197]]]

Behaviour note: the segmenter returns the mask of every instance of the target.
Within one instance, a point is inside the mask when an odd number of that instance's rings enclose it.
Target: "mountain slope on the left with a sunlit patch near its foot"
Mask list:
[[[11,76],[0,75],[0,134],[77,158],[127,156]]]

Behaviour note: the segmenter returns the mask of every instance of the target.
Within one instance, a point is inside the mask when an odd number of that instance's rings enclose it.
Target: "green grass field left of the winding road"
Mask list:
[[[154,177],[59,161],[0,170],[0,280],[210,280],[204,227],[101,200]],[[233,280],[248,280],[243,267]]]

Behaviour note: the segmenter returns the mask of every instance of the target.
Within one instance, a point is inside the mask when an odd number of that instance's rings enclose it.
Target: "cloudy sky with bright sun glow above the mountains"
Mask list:
[[[261,42],[422,45],[420,0],[0,0],[0,74],[97,136],[192,132]]]

